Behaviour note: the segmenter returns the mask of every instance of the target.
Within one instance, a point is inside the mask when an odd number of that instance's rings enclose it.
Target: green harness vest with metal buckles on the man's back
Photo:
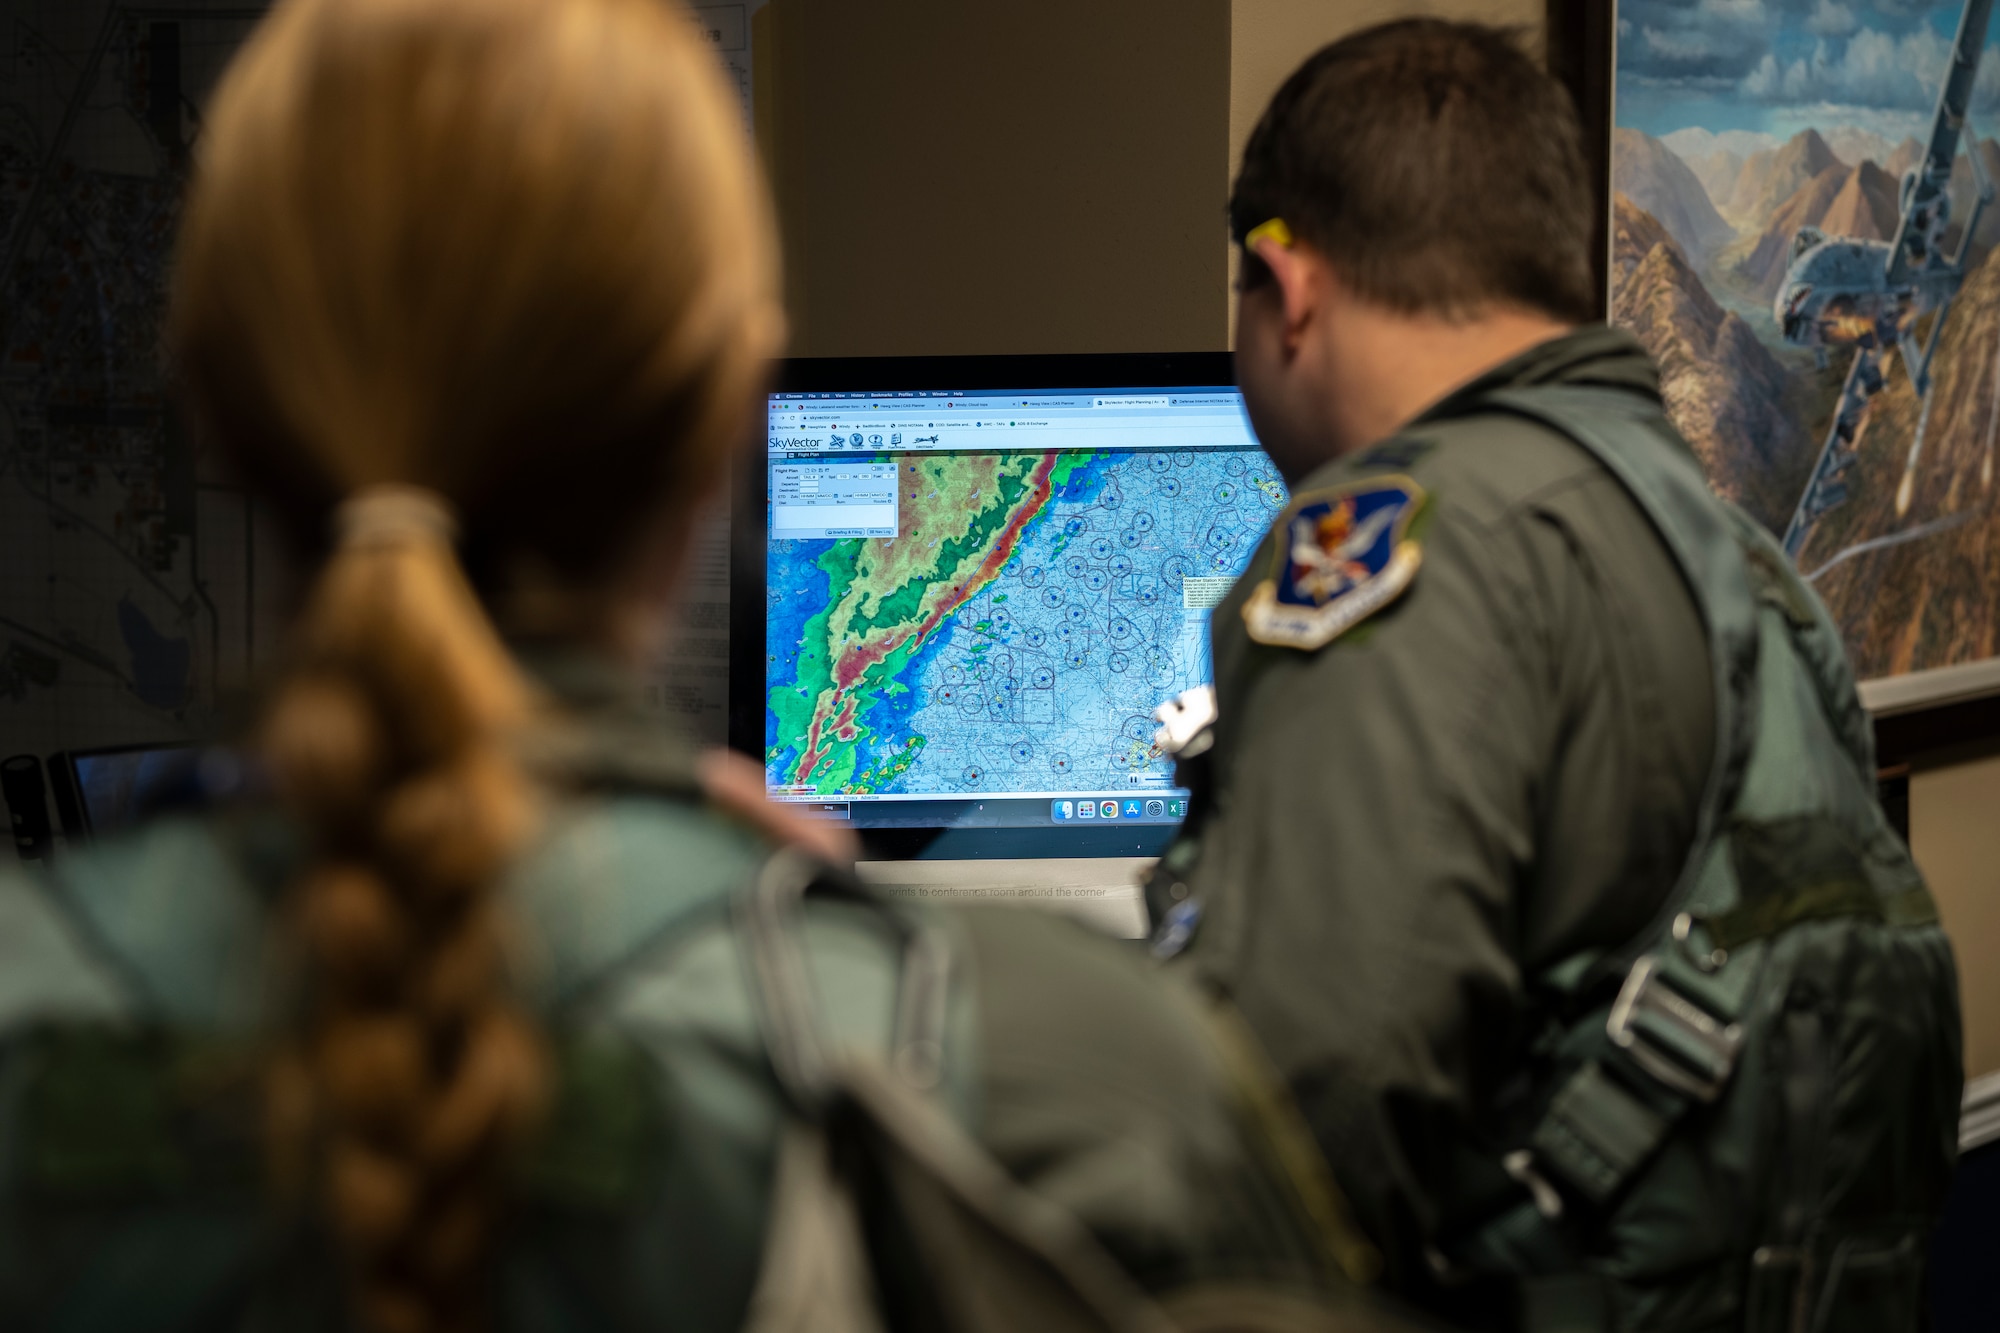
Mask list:
[[[1524,1101],[1554,1097],[1510,1161],[1584,1205],[1516,1207],[1446,1249],[1530,1275],[1530,1295],[1594,1279],[1596,1323],[1552,1309],[1536,1333],[1914,1331],[1956,1155],[1958,981],[1876,799],[1838,630],[1656,404],[1562,386],[1488,402],[1584,442],[1674,550],[1708,628],[1718,763],[1672,923],[1548,981],[1566,1027]]]

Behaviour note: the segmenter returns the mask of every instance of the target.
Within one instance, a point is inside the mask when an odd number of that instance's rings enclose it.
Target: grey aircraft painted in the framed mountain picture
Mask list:
[[[1854,240],[1824,236],[1818,228],[1800,228],[1792,238],[1792,264],[1778,288],[1772,314],[1786,342],[1820,352],[1822,364],[1830,348],[1854,348],[1854,364],[1840,388],[1840,406],[1826,432],[1826,444],[1812,466],[1806,492],[1798,498],[1792,522],[1784,528],[1784,550],[1794,560],[1806,544],[1806,534],[1826,510],[1848,498],[1842,480],[1854,466],[1854,440],[1868,402],[1884,384],[1884,362],[1894,346],[1910,374],[1924,408],[1916,438],[1904,462],[1902,484],[1896,488],[1896,514],[1910,508],[1916,488],[1916,462],[1924,448],[1924,424],[1930,420],[1930,358],[1938,350],[1944,316],[1966,278],[1966,256],[1980,214],[1994,198],[1994,186],[1980,166],[1980,154],[1968,154],[1978,198],[1972,216],[1960,232],[1958,248],[1944,252],[1946,226],[1952,220],[1948,186],[1952,160],[1958,156],[1958,136],[1972,106],[1972,84],[1980,72],[1980,52],[1986,46],[1986,20],[1994,0],[1966,0],[1958,16],[1958,36],[1952,40],[1952,62],[1938,90],[1938,112],[1930,122],[1924,158],[1902,178],[1902,220],[1896,238]],[[1918,336],[1918,322],[1934,314],[1930,334]]]

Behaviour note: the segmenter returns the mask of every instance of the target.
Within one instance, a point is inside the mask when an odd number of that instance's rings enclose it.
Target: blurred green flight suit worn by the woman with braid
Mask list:
[[[496,1263],[500,1329],[742,1327],[788,1105],[732,905],[770,857],[704,805],[694,755],[584,658],[578,725],[524,751],[558,795],[504,885],[556,1053]],[[258,1171],[256,1071],[298,979],[274,913],[302,861],[256,801],[156,817],[0,873],[0,1327],[342,1329],[312,1215]],[[800,909],[816,1019],[884,1051],[878,907]],[[1190,995],[1060,919],[924,913],[950,941],[936,1105],[1154,1293],[1326,1295],[1322,1237],[1258,1143]]]

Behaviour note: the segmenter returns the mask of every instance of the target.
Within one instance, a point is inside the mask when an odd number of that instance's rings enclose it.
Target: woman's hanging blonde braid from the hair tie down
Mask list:
[[[402,508],[398,524],[380,522]],[[428,510],[428,514],[426,514]],[[542,1115],[542,1041],[506,989],[494,881],[534,829],[508,755],[530,691],[458,570],[436,502],[380,488],[300,624],[264,727],[314,839],[292,895],[304,1031],[276,1065],[282,1177],[324,1197],[364,1321],[480,1323],[500,1175]]]

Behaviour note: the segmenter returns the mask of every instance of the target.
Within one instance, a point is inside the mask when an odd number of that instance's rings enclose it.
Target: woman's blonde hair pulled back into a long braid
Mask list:
[[[488,606],[604,630],[780,326],[738,112],[658,0],[286,0],[218,90],[170,346],[300,542],[338,528],[260,731],[312,837],[268,1145],[382,1333],[486,1321],[550,1095],[494,893],[548,705]]]

